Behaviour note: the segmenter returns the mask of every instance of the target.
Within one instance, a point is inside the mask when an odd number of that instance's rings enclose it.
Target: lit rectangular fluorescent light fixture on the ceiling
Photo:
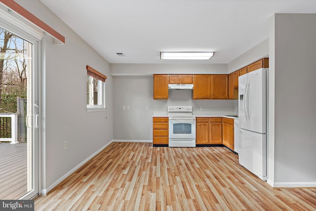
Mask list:
[[[210,59],[214,52],[160,52],[160,59]]]

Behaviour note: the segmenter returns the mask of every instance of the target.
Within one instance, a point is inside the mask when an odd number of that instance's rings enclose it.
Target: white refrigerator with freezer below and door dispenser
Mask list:
[[[267,180],[267,71],[238,78],[239,164]]]

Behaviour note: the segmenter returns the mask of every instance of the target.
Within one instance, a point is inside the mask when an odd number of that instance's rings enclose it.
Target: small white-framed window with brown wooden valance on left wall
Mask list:
[[[87,111],[105,110],[105,80],[107,77],[93,68],[87,69]]]

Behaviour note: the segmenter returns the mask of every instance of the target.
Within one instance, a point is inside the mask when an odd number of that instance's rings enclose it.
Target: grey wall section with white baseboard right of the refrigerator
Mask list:
[[[273,20],[275,19],[275,20]],[[316,186],[316,14],[272,18],[274,69],[273,186]],[[274,44],[274,45],[273,45]],[[269,136],[270,137],[270,136]],[[269,152],[273,153],[273,152]],[[270,175],[269,175],[270,177]]]

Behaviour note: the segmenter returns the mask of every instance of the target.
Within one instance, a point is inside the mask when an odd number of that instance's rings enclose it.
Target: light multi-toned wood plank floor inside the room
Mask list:
[[[224,147],[114,142],[35,199],[35,210],[315,211],[316,188],[273,189]]]

